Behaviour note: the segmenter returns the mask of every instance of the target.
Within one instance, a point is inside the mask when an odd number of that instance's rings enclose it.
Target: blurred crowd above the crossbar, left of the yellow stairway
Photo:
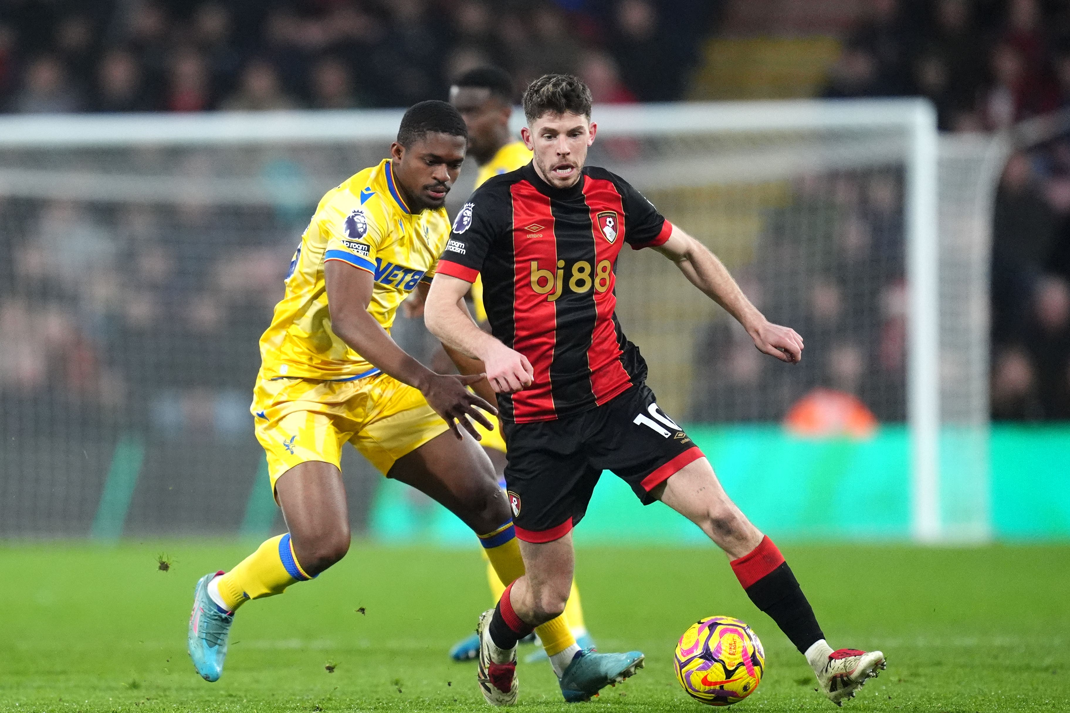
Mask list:
[[[683,96],[709,0],[0,0],[0,107],[403,107],[473,66],[582,75],[598,102]],[[518,93],[519,95],[519,93]]]

